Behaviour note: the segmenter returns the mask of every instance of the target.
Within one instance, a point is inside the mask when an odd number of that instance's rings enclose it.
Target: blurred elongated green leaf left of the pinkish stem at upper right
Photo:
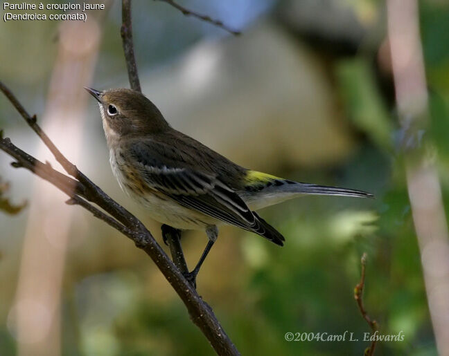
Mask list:
[[[337,79],[349,118],[381,149],[389,149],[392,124],[367,61],[356,58],[340,62]]]

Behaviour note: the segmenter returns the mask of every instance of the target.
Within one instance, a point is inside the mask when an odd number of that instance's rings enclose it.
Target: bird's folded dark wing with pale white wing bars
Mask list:
[[[157,149],[152,145],[157,145]],[[166,194],[189,209],[194,209],[220,221],[260,234],[278,245],[283,236],[252,212],[242,198],[215,174],[183,167],[176,162],[173,147],[160,156],[155,142],[139,142],[126,150],[133,168],[152,189]],[[185,165],[184,165],[185,166]]]

